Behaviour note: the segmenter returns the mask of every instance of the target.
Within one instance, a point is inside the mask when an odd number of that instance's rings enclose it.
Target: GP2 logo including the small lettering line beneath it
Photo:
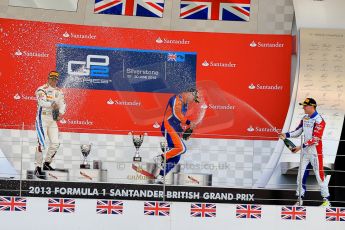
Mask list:
[[[108,84],[109,57],[105,55],[87,55],[86,61],[68,62],[68,75],[77,82]]]

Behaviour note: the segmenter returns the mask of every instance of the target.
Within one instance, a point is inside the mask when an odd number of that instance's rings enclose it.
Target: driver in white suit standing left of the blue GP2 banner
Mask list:
[[[40,179],[45,179],[42,167],[43,170],[54,170],[50,163],[60,146],[57,121],[65,114],[66,103],[62,91],[56,86],[59,75],[57,71],[51,71],[48,75],[48,82],[38,87],[35,93],[37,98],[35,126],[38,147],[35,153],[36,168],[34,174]],[[58,111],[55,120],[53,119],[54,110]],[[49,139],[49,147],[46,142],[47,138]],[[45,149],[47,149],[47,154],[43,162],[43,150]]]

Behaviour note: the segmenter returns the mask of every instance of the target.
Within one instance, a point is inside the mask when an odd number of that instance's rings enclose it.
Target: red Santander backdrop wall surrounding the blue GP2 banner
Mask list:
[[[196,55],[202,103],[195,137],[273,137],[289,104],[291,36],[120,29],[0,19],[0,124],[34,129],[35,90],[56,69],[58,45]],[[170,53],[169,53],[170,54]],[[170,57],[174,58],[174,56]],[[111,71],[111,69],[110,69]],[[63,88],[63,131],[161,135],[171,93]]]

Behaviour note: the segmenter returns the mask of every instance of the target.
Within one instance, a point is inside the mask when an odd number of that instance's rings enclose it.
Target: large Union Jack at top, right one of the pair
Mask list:
[[[249,21],[250,0],[182,0],[180,18]]]

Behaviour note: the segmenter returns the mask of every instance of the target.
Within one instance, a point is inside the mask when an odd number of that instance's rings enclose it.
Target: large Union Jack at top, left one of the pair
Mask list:
[[[163,17],[165,0],[95,0],[94,13]]]

